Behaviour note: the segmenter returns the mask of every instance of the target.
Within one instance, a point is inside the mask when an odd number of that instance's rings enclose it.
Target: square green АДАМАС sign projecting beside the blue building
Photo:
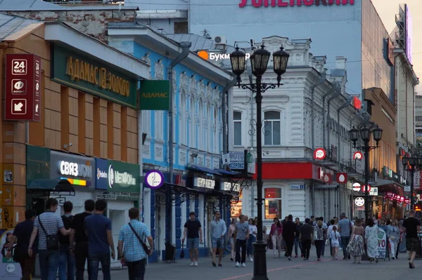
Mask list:
[[[139,109],[158,111],[170,109],[170,82],[141,81]]]

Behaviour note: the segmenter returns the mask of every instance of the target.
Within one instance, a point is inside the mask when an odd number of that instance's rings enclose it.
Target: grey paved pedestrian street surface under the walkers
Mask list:
[[[340,251],[340,257],[341,255]],[[211,258],[201,258],[199,267],[189,267],[190,260],[178,260],[175,263],[154,263],[146,269],[146,280],[250,280],[253,264],[246,262],[246,267],[234,267],[229,255],[223,259],[223,267],[212,267]],[[403,280],[421,279],[422,260],[415,260],[416,269],[409,269],[407,254],[400,254],[399,260],[380,260],[378,264],[363,261],[361,265],[353,264],[352,260],[331,260],[327,256],[321,262],[316,261],[315,248],[309,261],[301,258],[273,258],[272,252],[267,252],[267,271],[270,280]],[[115,280],[129,279],[127,270],[113,270],[111,278]],[[87,279],[87,277],[85,277]],[[103,276],[99,273],[98,280]]]

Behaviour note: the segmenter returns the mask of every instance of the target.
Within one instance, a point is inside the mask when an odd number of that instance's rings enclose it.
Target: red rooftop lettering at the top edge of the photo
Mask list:
[[[264,7],[287,7],[287,6],[333,6],[333,5],[353,5],[354,0],[252,0],[252,6],[255,8]],[[239,7],[248,5],[248,0],[241,0]]]

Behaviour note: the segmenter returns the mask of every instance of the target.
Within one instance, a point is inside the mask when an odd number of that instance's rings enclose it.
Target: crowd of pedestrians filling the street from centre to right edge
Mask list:
[[[323,217],[306,218],[301,222],[299,218],[293,221],[293,215],[288,215],[283,221],[274,218],[273,224],[267,234],[267,228],[263,227],[264,240],[268,242],[268,248],[273,251],[274,258],[284,257],[289,261],[292,258],[309,260],[312,245],[316,250],[316,260],[321,261],[324,257],[326,247],[330,248],[330,255],[333,260],[338,260],[339,251],[343,251],[343,260],[353,258],[353,263],[361,264],[362,257],[366,256],[369,262],[378,263],[380,258],[380,236],[383,232],[388,241],[388,253],[390,258],[395,260],[399,257],[400,245],[405,244],[404,251],[409,251],[409,268],[414,268],[414,258],[418,251],[420,222],[414,218],[415,211],[409,212],[409,218],[400,221],[394,219],[376,220],[347,218],[345,213],[340,219],[333,217],[324,222]],[[220,213],[215,212],[215,220],[210,223],[210,235],[212,237],[212,265],[217,266],[216,253],[218,251],[218,266],[222,266],[222,255],[224,250],[224,238],[229,240],[231,246],[231,261],[236,267],[245,267],[246,261],[253,262],[252,244],[257,239],[258,219],[248,218],[247,215],[240,215],[232,218],[229,228],[220,218]],[[198,266],[198,246],[202,244],[202,228],[196,220],[196,213],[190,213],[190,220],[186,222],[183,242],[187,236],[187,247],[191,255],[191,266]],[[227,235],[226,235],[227,234]],[[294,249],[294,254],[293,254]],[[385,257],[385,256],[383,256]]]

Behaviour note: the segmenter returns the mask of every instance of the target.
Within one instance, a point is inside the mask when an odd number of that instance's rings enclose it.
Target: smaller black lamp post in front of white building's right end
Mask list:
[[[376,128],[373,128],[372,135],[373,140],[376,142],[376,146],[369,146],[369,142],[371,141],[371,129],[363,126],[360,129],[353,128],[349,131],[350,140],[353,142],[354,149],[359,149],[364,152],[365,156],[365,222],[369,218],[369,151],[371,149],[378,148],[378,142],[381,141],[381,138],[383,137],[383,130],[376,126]],[[356,146],[357,140],[360,138],[364,141],[364,146]]]

